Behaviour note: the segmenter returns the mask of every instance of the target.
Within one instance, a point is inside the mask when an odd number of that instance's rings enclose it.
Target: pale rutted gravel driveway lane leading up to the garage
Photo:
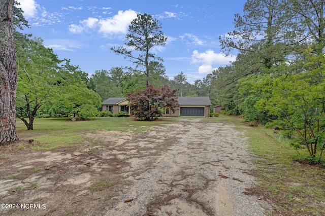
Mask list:
[[[128,182],[106,215],[264,215],[246,138],[234,126],[200,118],[153,126],[121,143]]]

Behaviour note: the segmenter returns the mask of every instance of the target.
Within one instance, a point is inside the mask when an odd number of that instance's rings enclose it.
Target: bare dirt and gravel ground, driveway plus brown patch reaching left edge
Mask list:
[[[0,214],[264,215],[270,206],[245,194],[254,167],[242,131],[182,119],[88,133],[75,149],[0,147]]]

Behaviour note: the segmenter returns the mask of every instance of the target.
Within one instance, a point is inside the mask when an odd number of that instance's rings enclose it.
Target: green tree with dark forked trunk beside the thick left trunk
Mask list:
[[[28,130],[33,129],[39,108],[57,95],[57,78],[61,60],[52,49],[45,48],[41,39],[30,40],[24,50],[17,53],[18,89],[17,116]],[[27,121],[25,118],[28,118]]]

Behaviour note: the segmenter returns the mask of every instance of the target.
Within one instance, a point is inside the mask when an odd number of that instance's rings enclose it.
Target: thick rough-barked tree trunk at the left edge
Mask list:
[[[13,6],[14,0],[0,0],[0,143],[18,140],[15,119],[17,71]]]

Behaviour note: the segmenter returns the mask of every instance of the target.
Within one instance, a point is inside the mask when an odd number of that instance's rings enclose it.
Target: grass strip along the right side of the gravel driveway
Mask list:
[[[244,131],[256,166],[257,185],[250,194],[272,203],[270,215],[325,215],[324,167],[296,162],[298,151],[290,140],[272,129],[247,126],[241,118],[220,116],[214,121],[229,122]],[[299,154],[306,154],[300,151]]]

